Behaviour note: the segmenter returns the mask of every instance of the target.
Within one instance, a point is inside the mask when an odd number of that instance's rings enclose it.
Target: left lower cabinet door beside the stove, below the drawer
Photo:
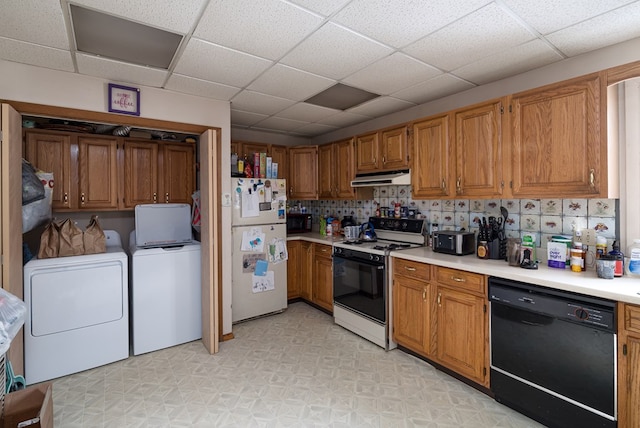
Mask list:
[[[430,290],[428,282],[394,275],[393,340],[425,356],[431,353]]]

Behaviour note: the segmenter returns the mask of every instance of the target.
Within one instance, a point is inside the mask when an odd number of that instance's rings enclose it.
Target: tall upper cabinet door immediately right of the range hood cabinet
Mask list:
[[[414,198],[455,195],[451,148],[448,115],[413,124]]]

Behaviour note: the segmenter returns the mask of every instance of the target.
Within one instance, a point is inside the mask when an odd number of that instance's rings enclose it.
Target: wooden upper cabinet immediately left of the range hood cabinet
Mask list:
[[[318,197],[320,199],[354,199],[351,187],[355,177],[353,139],[318,147]]]

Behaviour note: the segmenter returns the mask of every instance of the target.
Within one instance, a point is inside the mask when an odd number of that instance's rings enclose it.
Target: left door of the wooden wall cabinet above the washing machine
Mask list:
[[[158,144],[124,142],[124,208],[158,202]]]

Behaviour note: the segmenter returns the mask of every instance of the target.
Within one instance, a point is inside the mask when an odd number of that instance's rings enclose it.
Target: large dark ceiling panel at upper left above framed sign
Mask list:
[[[76,47],[81,52],[167,69],[182,41],[180,34],[74,4],[70,7]]]

